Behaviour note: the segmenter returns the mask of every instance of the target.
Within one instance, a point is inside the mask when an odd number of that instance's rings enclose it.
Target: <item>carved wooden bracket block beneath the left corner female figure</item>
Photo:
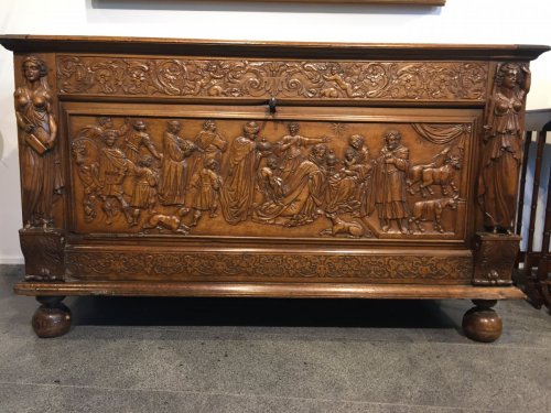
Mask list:
[[[60,229],[24,228],[19,230],[25,258],[25,281],[63,281],[65,237]]]

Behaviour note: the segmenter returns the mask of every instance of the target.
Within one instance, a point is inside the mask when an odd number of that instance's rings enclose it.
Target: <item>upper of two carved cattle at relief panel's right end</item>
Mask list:
[[[460,191],[455,184],[455,176],[460,169],[461,157],[454,155],[446,156],[445,163],[442,166],[436,166],[435,163],[412,166],[407,180],[408,191],[411,195],[414,195],[415,189],[413,185],[419,183],[419,192],[423,198],[426,197],[426,193],[434,194],[431,185],[440,185],[442,195],[449,194],[447,186],[451,186],[454,194],[457,194]]]

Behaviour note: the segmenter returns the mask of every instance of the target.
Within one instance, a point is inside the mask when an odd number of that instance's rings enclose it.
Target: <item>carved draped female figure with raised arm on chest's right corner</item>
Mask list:
[[[478,178],[484,224],[494,232],[510,232],[515,222],[522,156],[522,109],[529,89],[527,66],[509,63],[499,67],[496,91],[489,100],[486,146]]]

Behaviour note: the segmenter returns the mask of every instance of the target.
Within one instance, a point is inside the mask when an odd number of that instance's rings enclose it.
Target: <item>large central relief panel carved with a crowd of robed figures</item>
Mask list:
[[[474,110],[66,109],[77,233],[465,238]]]

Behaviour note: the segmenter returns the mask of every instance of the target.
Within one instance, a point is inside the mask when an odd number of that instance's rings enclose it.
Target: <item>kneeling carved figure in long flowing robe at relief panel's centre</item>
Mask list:
[[[325,173],[311,161],[303,161],[285,181],[287,195],[279,203],[264,203],[255,209],[257,222],[298,226],[317,218],[324,198]]]

